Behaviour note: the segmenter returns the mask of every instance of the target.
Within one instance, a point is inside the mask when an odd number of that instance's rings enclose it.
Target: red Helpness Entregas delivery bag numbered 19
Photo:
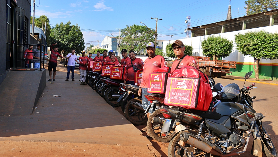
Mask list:
[[[170,67],[161,67],[150,73],[148,93],[164,94],[167,78],[170,76]]]

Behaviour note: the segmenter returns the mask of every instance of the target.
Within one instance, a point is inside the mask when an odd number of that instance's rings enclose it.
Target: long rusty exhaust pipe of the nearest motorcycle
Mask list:
[[[199,137],[199,138],[202,138],[202,137]],[[250,137],[248,136],[247,139],[246,139],[243,151],[222,154],[222,152],[220,153],[220,152],[216,151],[215,149],[218,148],[218,147],[214,146],[210,142],[203,142],[203,141],[200,141],[200,140],[198,140],[194,137],[188,136],[185,131],[182,131],[181,134],[180,134],[180,140],[181,141],[183,141],[187,144],[190,144],[193,147],[201,149],[202,151],[205,151],[207,153],[214,154],[214,155],[217,155],[217,156],[220,156],[220,157],[227,157],[227,156],[233,156],[233,155],[239,155],[239,154],[245,153],[245,151],[247,149],[247,146],[249,144],[249,139],[250,139]]]

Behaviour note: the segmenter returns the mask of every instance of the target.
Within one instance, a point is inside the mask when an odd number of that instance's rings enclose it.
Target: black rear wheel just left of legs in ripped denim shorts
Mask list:
[[[142,104],[142,98],[132,98],[130,99],[125,106],[125,117],[133,125],[142,125],[148,121],[147,115],[145,116],[144,111],[139,110],[131,106],[132,102],[138,102]],[[139,106],[138,106],[139,107]]]

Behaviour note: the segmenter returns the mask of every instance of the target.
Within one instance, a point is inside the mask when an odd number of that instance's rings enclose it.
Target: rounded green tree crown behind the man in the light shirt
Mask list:
[[[68,21],[66,24],[60,23],[56,24],[54,28],[51,29],[50,33],[51,44],[57,43],[59,51],[62,51],[64,56],[71,52],[71,49],[76,50],[76,54],[81,54],[82,50],[85,48],[83,34],[80,27],[76,25],[71,25]]]

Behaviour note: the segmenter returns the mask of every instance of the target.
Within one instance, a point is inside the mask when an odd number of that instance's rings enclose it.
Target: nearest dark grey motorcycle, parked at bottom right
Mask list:
[[[251,75],[252,71],[247,73],[245,81]],[[242,89],[235,83],[225,86],[220,92],[220,101],[210,112],[161,109],[166,117],[176,117],[165,121],[162,128],[167,131],[175,127],[178,132],[169,143],[168,156],[226,157],[243,154],[250,143],[250,135],[254,137],[252,155],[277,156],[275,146],[262,125],[262,113],[257,113],[252,107],[255,97],[250,98],[249,93],[256,88],[253,86],[255,84]]]

